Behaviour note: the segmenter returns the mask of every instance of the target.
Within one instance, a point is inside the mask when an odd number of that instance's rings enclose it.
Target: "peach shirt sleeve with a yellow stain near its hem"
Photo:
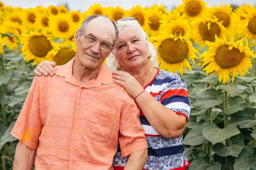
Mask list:
[[[40,88],[38,77],[35,76],[24,105],[11,132],[12,136],[34,150],[38,147],[38,137],[41,134],[42,128],[39,100]]]

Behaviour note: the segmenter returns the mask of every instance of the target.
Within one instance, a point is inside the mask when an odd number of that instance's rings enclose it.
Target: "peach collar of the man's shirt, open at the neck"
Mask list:
[[[71,59],[67,64],[57,66],[56,69],[56,75],[65,77],[66,82],[70,82],[75,77],[73,77],[73,65],[75,62],[76,57]],[[70,82],[72,83],[72,82]],[[72,83],[73,84],[73,83]],[[99,73],[96,77],[96,79],[92,79],[89,82],[87,82],[83,87],[100,87],[102,84],[115,84],[113,82],[113,77],[112,77],[112,71],[109,70],[104,64],[100,66]]]

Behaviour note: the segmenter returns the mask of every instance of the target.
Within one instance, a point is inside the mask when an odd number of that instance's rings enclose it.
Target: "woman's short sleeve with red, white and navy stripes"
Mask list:
[[[190,103],[186,82],[178,75],[170,73],[164,83],[160,102],[177,114],[186,117],[189,121]]]

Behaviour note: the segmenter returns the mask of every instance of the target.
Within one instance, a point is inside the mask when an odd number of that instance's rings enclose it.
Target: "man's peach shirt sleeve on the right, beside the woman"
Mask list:
[[[121,110],[118,141],[122,157],[148,148],[145,132],[140,123],[140,109],[132,97]]]

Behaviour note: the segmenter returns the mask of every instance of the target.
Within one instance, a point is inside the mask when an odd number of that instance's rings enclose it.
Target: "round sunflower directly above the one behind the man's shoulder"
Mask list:
[[[65,39],[74,34],[76,26],[72,23],[70,14],[58,14],[49,18],[49,29],[55,37]]]

